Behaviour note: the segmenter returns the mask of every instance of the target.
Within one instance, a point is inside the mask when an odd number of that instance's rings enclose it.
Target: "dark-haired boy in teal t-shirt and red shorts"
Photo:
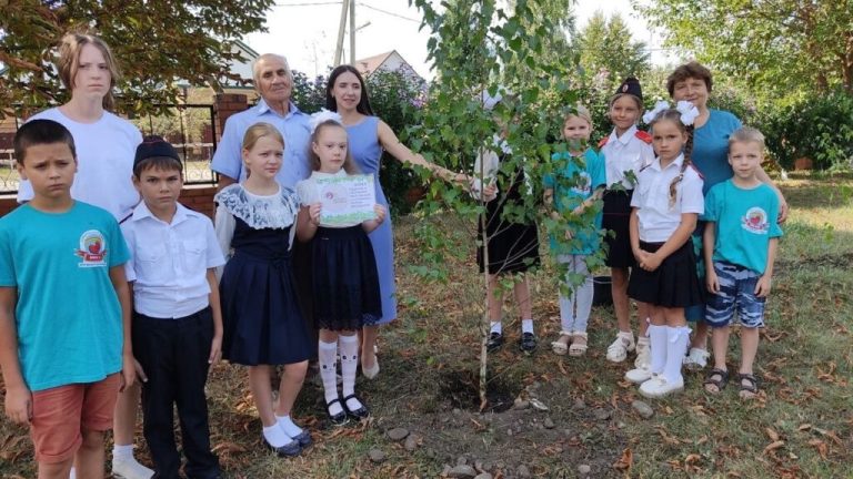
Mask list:
[[[134,380],[128,248],[106,210],[71,198],[71,133],[33,120],[14,135],[32,200],[0,218],[6,414],[28,424],[39,478],[103,478],[103,436]]]

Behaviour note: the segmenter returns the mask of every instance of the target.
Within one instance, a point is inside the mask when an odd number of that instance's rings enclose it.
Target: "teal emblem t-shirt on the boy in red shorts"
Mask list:
[[[30,390],[121,370],[121,305],[109,268],[128,257],[113,216],[87,203],[64,213],[24,204],[0,218],[0,287],[18,288],[18,358]]]

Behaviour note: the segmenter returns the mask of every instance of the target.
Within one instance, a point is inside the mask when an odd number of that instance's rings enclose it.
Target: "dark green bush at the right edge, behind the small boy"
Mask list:
[[[756,121],[767,150],[786,169],[800,157],[815,170],[849,170],[853,160],[853,94],[815,93],[789,106],[767,109]]]

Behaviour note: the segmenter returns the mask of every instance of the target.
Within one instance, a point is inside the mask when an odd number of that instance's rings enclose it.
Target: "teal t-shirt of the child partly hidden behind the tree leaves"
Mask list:
[[[586,149],[583,156],[572,159],[568,152],[554,153],[551,161],[556,163],[554,174],[545,175],[545,188],[554,190],[554,208],[564,213],[578,207],[584,200],[592,196],[596,188],[608,182],[604,170],[604,157],[592,149]],[[574,232],[568,245],[561,245],[551,236],[551,251],[556,254],[590,255],[599,249],[601,240],[602,213],[599,212],[593,224]]]

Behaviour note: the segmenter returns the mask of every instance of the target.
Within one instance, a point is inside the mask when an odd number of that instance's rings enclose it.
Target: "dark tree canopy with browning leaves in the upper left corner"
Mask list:
[[[69,92],[52,67],[70,31],[101,37],[123,80],[120,108],[145,111],[174,102],[177,80],[210,84],[228,78],[237,40],[264,29],[273,0],[0,2],[0,115],[63,102]],[[234,80],[234,79],[232,79]]]

